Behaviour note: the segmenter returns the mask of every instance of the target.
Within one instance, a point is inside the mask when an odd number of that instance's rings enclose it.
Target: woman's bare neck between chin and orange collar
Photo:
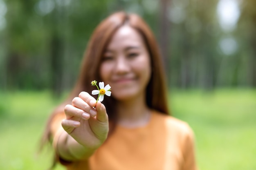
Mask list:
[[[144,126],[150,119],[150,109],[143,95],[117,103],[118,124],[126,127]]]

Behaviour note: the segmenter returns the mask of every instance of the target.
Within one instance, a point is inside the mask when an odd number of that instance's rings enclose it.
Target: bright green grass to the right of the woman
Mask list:
[[[256,169],[256,91],[172,91],[173,115],[195,132],[201,170]]]

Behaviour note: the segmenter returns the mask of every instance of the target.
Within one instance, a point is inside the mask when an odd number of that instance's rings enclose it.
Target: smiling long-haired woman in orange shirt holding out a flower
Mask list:
[[[90,95],[96,79],[111,97]],[[157,43],[136,14],[118,12],[95,29],[70,97],[44,140],[67,170],[195,170],[193,132],[169,116]]]

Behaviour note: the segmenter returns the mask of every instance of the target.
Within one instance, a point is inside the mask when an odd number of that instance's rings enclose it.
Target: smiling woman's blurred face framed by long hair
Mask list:
[[[103,54],[100,75],[117,100],[145,96],[151,75],[150,57],[135,29],[122,26],[113,35]]]

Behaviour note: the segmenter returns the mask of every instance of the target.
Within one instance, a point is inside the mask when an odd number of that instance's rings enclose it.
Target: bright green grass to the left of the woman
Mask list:
[[[38,154],[38,147],[47,117],[57,104],[49,92],[0,93],[0,170],[46,170],[51,166],[51,150],[46,147]]]

